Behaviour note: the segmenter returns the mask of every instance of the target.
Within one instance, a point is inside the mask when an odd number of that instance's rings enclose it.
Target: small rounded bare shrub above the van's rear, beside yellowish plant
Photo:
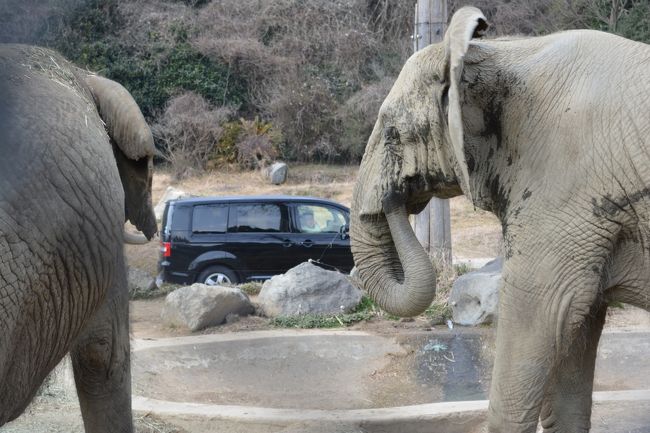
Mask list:
[[[152,130],[164,148],[174,176],[183,178],[206,168],[232,115],[228,107],[213,108],[203,97],[187,92],[172,98]]]

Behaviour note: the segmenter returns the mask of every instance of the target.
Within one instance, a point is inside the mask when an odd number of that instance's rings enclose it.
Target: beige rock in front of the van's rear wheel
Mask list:
[[[221,325],[231,314],[245,316],[254,311],[248,296],[236,287],[196,283],[167,295],[162,319],[168,324],[184,325],[198,331]]]

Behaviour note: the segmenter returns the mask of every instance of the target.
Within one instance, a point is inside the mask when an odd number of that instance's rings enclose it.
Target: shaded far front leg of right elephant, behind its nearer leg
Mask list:
[[[596,355],[606,313],[603,305],[587,318],[583,335],[560,361],[542,406],[545,433],[589,432]]]

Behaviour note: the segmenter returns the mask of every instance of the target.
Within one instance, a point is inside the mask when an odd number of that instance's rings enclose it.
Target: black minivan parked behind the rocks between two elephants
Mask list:
[[[178,284],[265,280],[316,260],[350,272],[350,210],[297,196],[197,197],[167,202],[160,269]]]

